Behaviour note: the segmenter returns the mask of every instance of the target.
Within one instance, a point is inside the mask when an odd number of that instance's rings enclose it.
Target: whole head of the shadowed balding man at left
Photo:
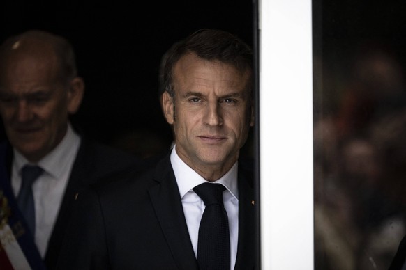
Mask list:
[[[31,162],[50,153],[82,102],[73,49],[64,38],[28,31],[0,47],[0,115],[13,148]]]

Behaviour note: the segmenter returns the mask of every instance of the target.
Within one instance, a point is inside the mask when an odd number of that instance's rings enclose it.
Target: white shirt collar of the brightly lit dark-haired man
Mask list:
[[[179,193],[181,198],[185,196],[188,191],[193,189],[199,184],[205,183],[206,180],[190,168],[176,153],[176,145],[171,152],[171,164],[176,177],[176,182],[179,186]],[[223,184],[225,188],[230,191],[232,196],[238,200],[238,186],[237,186],[237,172],[238,172],[238,162],[236,162],[232,168],[214,183]]]

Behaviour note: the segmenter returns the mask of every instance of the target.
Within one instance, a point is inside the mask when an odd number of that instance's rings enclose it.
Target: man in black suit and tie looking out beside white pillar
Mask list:
[[[174,148],[153,168],[79,194],[57,269],[258,267],[253,174],[239,160],[254,123],[250,48],[225,31],[197,31],[167,56],[164,83]],[[207,202],[201,186],[221,202]],[[204,223],[211,204],[223,216]]]

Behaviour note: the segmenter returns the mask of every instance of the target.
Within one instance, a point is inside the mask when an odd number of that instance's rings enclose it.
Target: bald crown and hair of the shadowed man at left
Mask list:
[[[65,38],[52,33],[31,30],[3,42],[0,47],[1,70],[7,70],[9,65],[22,58],[52,63],[62,84],[77,76],[72,45]]]

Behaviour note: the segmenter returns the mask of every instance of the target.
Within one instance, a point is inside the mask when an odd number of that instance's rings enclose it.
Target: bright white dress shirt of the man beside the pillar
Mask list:
[[[179,193],[181,194],[183,212],[185,213],[185,219],[188,225],[190,241],[192,241],[193,250],[195,251],[195,256],[197,256],[199,225],[205,206],[203,200],[195,193],[195,191],[193,191],[193,188],[206,182],[206,180],[181,160],[176,153],[176,145],[172,149],[171,164],[176,177],[176,182],[179,186]],[[230,228],[231,269],[234,269],[236,262],[239,232],[237,171],[238,164],[236,163],[223,177],[214,182],[223,184],[227,189],[227,191],[223,192],[223,201],[225,210],[227,211]]]

